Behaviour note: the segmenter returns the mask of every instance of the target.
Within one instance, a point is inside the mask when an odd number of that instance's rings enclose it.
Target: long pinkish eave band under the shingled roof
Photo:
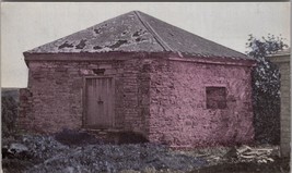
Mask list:
[[[174,61],[188,61],[197,63],[212,63],[226,65],[255,66],[256,61],[253,59],[243,59],[238,57],[219,57],[203,54],[187,54],[182,52],[23,52],[25,63],[28,66],[30,61],[114,61],[128,60],[132,58],[157,58],[170,59]]]

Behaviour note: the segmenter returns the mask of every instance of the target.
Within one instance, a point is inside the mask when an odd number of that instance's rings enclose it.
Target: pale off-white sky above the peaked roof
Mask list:
[[[26,87],[22,52],[132,10],[245,52],[248,34],[290,45],[290,2],[5,2],[1,4],[1,87]]]

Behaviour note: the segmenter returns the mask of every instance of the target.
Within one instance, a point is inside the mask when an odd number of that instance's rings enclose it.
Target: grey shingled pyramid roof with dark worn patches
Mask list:
[[[191,55],[249,59],[139,11],[43,45],[26,53],[59,52],[180,52]]]

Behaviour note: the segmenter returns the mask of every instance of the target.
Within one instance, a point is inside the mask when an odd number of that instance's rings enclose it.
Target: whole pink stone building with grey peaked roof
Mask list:
[[[253,140],[254,61],[142,12],[24,57],[19,124],[28,131],[131,131],[173,147]]]

